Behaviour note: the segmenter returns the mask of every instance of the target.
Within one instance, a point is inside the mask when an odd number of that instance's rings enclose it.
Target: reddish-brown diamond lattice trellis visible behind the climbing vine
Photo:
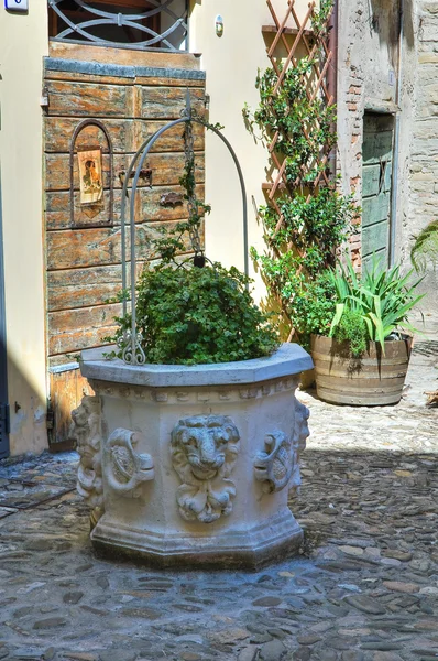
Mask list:
[[[324,106],[329,107],[335,102],[335,95],[331,90],[332,84],[329,85],[329,74],[333,74],[335,66],[335,53],[330,43],[330,30],[332,25],[330,25],[332,21],[332,15],[328,15],[322,24],[319,24],[318,31],[314,31],[313,29],[313,19],[316,17],[316,3],[311,1],[308,4],[308,9],[300,20],[297,13],[297,2],[296,0],[287,0],[287,9],[284,18],[277,15],[272,1],[266,0],[267,7],[270,9],[273,24],[263,25],[262,31],[264,34],[271,33],[274,34],[274,39],[271,45],[266,48],[267,57],[271,61],[271,65],[277,76],[276,84],[273,89],[273,94],[277,95],[284,85],[285,76],[291,66],[296,67],[299,63],[299,54],[303,53],[304,56],[308,58],[311,64],[310,73],[307,75],[303,75],[303,85],[306,89],[307,99],[313,102],[317,98],[321,100]],[[294,26],[291,24],[294,23]],[[281,47],[284,48],[285,52],[281,52]],[[331,80],[336,79],[335,76],[331,75]],[[307,127],[308,128],[308,127]],[[303,133],[308,139],[308,131],[306,126],[303,123]],[[287,165],[287,156],[278,153],[277,141],[280,138],[278,131],[273,136],[271,143],[269,144],[269,152],[272,163],[274,165],[274,175],[272,177],[271,183],[264,183],[263,189],[266,192],[269,204],[275,209],[278,221],[275,227],[274,236],[282,229],[284,224],[284,217],[281,212],[281,208],[277,204],[277,196],[281,192],[288,192],[293,195],[294,191],[298,187],[302,188],[316,188],[317,186],[332,186],[333,177],[330,175],[328,170],[328,162],[330,156],[330,149],[321,144],[320,153],[318,159],[319,171],[315,180],[309,184],[305,183],[305,177],[308,175],[313,163],[302,164],[300,174],[297,176],[295,182],[291,183],[286,176],[286,165]],[[326,167],[327,166],[327,167]],[[308,199],[310,198],[310,193],[308,195]],[[288,245],[288,249],[295,249],[299,257],[305,257],[305,251],[298,250],[297,247]],[[303,270],[303,266],[299,267],[298,272]],[[295,329],[292,328],[292,332],[288,337],[288,342],[293,338],[295,334]]]

